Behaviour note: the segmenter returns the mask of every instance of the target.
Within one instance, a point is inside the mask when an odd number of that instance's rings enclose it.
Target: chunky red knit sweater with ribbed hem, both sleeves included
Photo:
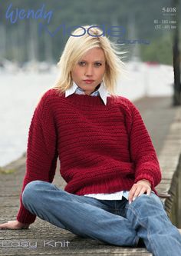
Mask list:
[[[46,91],[35,108],[28,135],[25,185],[52,182],[57,158],[64,188],[72,194],[129,191],[141,179],[152,189],[161,172],[143,120],[127,98],[58,95]],[[18,221],[32,223],[35,215],[21,203]]]

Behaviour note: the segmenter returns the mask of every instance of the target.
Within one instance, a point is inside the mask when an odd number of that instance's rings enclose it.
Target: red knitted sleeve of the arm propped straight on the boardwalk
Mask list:
[[[54,115],[45,96],[41,98],[35,108],[28,131],[28,147],[26,158],[26,173],[21,189],[31,181],[52,182],[57,166],[58,150]],[[31,224],[36,216],[31,214],[22,204],[20,195],[20,209],[17,220]]]

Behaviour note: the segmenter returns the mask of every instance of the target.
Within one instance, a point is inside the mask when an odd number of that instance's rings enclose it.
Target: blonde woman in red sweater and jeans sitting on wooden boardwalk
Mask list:
[[[161,172],[150,135],[133,103],[114,95],[123,63],[99,28],[84,26],[79,37],[82,29],[35,108],[21,208],[0,228],[28,228],[38,216],[81,237],[132,247],[141,238],[154,255],[179,255],[181,236],[155,190]],[[64,191],[51,184],[58,157]]]

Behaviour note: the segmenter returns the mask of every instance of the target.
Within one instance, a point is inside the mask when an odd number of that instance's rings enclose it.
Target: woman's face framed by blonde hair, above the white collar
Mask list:
[[[73,81],[91,95],[97,85],[103,80],[106,69],[106,58],[101,48],[92,48],[80,59],[71,71]]]

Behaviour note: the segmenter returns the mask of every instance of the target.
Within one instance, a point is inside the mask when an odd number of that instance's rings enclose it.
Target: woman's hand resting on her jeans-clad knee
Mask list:
[[[135,183],[133,187],[130,189],[129,197],[128,197],[129,204],[132,201],[134,201],[137,197],[139,197],[141,194],[144,194],[144,193],[150,195],[151,193],[150,182],[146,180],[137,181],[137,183]]]

